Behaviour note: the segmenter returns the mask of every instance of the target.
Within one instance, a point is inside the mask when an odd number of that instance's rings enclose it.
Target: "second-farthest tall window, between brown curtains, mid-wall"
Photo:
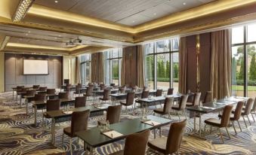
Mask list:
[[[106,50],[104,52],[105,84],[121,83],[122,48]]]

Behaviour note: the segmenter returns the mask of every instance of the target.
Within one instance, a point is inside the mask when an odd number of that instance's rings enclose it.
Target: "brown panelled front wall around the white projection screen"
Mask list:
[[[48,75],[23,75],[23,59],[48,59]],[[41,56],[5,53],[5,91],[11,87],[39,84],[44,87],[60,87],[62,81],[62,56]]]

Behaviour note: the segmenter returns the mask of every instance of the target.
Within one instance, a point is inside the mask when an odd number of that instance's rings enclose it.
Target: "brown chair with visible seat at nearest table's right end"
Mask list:
[[[179,154],[180,144],[182,141],[184,129],[186,127],[187,120],[181,122],[171,123],[168,137],[156,138],[153,141],[149,141],[147,146],[150,149],[157,150],[163,154]],[[150,150],[149,149],[149,150]]]

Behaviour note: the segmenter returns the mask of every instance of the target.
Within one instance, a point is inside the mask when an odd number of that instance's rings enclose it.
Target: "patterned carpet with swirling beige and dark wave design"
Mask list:
[[[30,105],[31,106],[31,105]],[[153,107],[155,108],[155,107]],[[38,111],[39,114],[42,111]],[[149,114],[153,114],[153,111],[148,111]],[[41,116],[41,115],[40,115]],[[134,119],[132,114],[123,113],[121,120]],[[208,117],[217,117],[217,114],[205,114],[202,116],[203,120]],[[184,117],[182,117],[184,118]],[[104,116],[91,117],[89,120],[89,128],[97,125],[97,120],[103,120]],[[42,117],[39,117],[40,122]],[[171,120],[178,120],[175,115],[171,116]],[[70,126],[70,122],[60,123],[60,126],[56,126],[56,147],[54,148],[50,144],[51,131],[50,129],[44,129],[41,125],[35,127],[32,125],[34,121],[33,115],[26,115],[26,109],[20,108],[12,99],[12,93],[0,93],[0,154],[49,154],[49,153],[61,153],[66,152],[69,154],[69,138],[65,136],[63,146],[61,144],[61,137],[63,128]],[[248,121],[248,120],[247,120]],[[197,123],[199,120],[197,120]],[[256,154],[256,123],[245,128],[245,124],[242,119],[240,124],[242,125],[242,132],[238,132],[235,135],[233,127],[229,128],[231,139],[229,140],[226,132],[224,133],[224,144],[220,142],[220,135],[217,131],[211,134],[207,133],[206,141],[199,138],[190,136],[189,133],[193,132],[193,119],[188,120],[186,127],[186,134],[184,135],[180,154]],[[247,122],[248,123],[248,122]],[[49,124],[49,123],[48,123]],[[239,127],[236,126],[236,131],[239,131]],[[168,134],[169,126],[162,128],[162,135]],[[150,135],[150,139],[153,139],[153,134]],[[124,141],[117,141],[113,144],[107,144],[102,147],[97,147],[94,154],[109,154],[123,148]],[[85,154],[83,151],[83,143],[76,141],[73,138],[72,143],[73,154]],[[149,151],[148,154],[158,154],[153,151]]]

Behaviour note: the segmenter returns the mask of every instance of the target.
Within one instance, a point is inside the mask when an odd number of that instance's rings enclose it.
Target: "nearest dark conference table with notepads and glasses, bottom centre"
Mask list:
[[[150,122],[150,120],[153,122],[153,124],[147,123]],[[85,154],[88,153],[88,148],[90,150],[90,154],[93,154],[95,147],[100,147],[104,144],[109,144],[115,141],[122,140],[128,135],[137,132],[143,132],[147,129],[160,129],[159,131],[161,131],[161,127],[166,126],[169,123],[171,123],[171,120],[149,115],[147,116],[147,120],[135,118],[134,120],[125,120],[124,122],[110,124],[110,131],[119,132],[121,134],[120,136],[115,138],[109,138],[108,136],[104,135],[103,132],[100,132],[100,129],[98,127],[94,127],[92,129],[81,132],[76,132],[76,135],[78,136],[78,138],[84,141]]]

